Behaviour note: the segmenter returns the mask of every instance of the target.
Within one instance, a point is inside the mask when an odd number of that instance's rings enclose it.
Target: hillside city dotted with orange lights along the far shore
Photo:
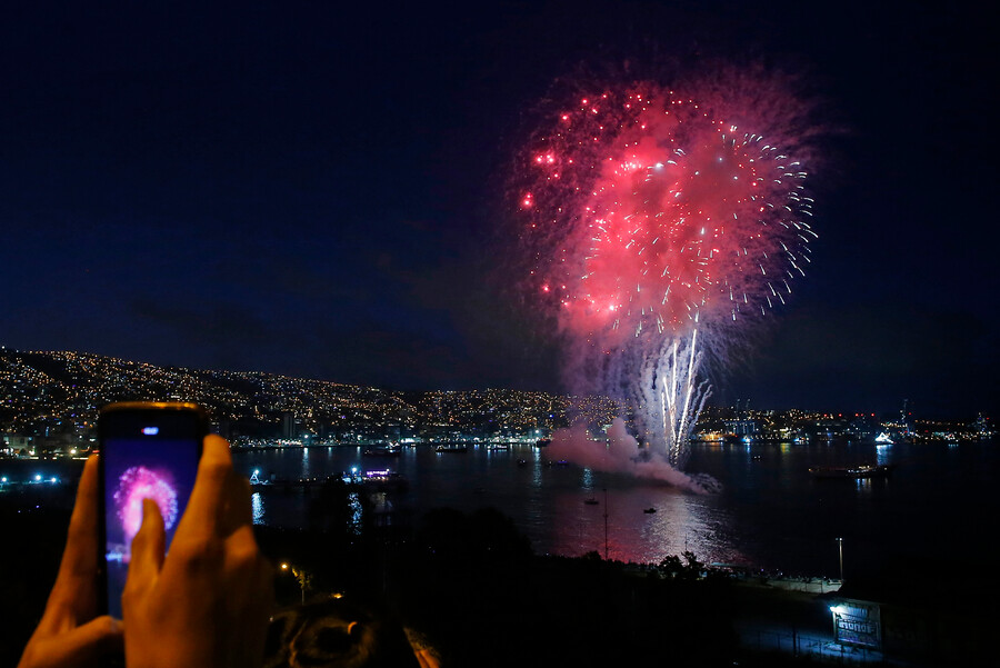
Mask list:
[[[100,407],[120,400],[187,400],[207,407],[234,441],[419,442],[456,438],[542,439],[582,422],[594,435],[629,408],[608,397],[521,390],[427,392],[291,378],[273,373],[158,367],[79,352],[0,349],[0,451],[88,449]],[[749,402],[708,407],[697,440],[879,442],[989,438],[983,416],[969,423],[898,416],[753,410]]]

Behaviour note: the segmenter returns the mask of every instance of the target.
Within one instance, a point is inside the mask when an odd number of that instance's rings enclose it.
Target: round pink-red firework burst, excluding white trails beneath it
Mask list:
[[[534,288],[569,331],[616,346],[734,321],[783,302],[804,273],[811,200],[780,119],[704,88],[710,102],[609,88],[532,141],[519,200]]]

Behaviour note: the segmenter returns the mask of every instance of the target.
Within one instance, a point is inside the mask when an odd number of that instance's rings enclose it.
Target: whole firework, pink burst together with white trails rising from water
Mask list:
[[[806,113],[782,83],[721,69],[578,93],[519,170],[530,289],[577,343],[569,377],[626,392],[676,468],[710,393],[702,350],[784,303],[810,261]]]

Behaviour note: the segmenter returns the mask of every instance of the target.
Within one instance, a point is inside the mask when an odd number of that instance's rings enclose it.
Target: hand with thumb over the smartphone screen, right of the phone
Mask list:
[[[188,508],[164,559],[163,520],[142,506],[122,595],[129,668],[259,666],[273,577],[253,538],[250,490],[229,445],[204,439]]]

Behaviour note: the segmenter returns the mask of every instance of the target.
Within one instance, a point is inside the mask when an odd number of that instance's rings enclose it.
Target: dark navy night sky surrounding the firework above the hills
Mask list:
[[[718,399],[997,408],[997,24],[964,3],[19,4],[0,345],[559,390],[497,271],[529,112],[580,63],[710,53],[807,72],[833,130],[812,271]]]

